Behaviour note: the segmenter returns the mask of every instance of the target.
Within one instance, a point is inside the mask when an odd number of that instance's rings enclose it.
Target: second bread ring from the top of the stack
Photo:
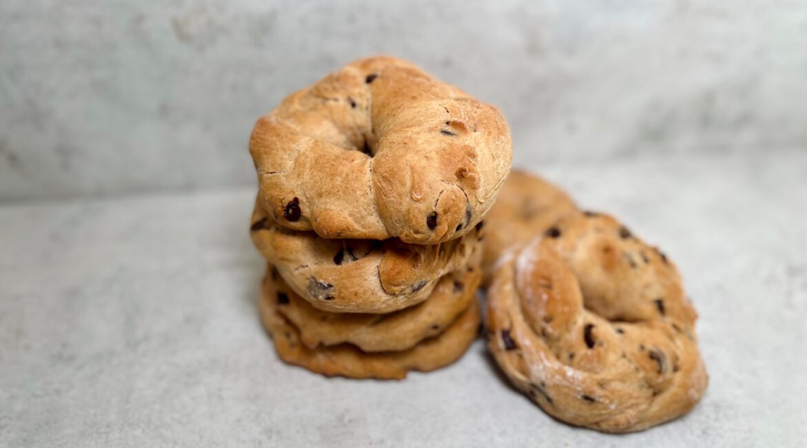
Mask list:
[[[416,305],[441,276],[466,268],[482,251],[481,228],[426,246],[399,239],[323,239],[288,230],[266,218],[260,203],[252,222],[250,234],[261,255],[295,292],[324,311],[391,313]]]

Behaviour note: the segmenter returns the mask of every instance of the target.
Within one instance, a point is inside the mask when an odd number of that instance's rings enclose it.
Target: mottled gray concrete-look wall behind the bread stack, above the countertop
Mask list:
[[[4,0],[0,201],[251,185],[257,117],[379,52],[519,164],[803,146],[805,42],[803,0]]]

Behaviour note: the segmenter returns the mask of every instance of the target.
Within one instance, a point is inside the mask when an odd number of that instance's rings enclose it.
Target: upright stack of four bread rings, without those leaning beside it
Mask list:
[[[261,321],[278,356],[400,379],[459,359],[479,327],[483,217],[512,159],[493,106],[373,57],[292,93],[249,142]]]

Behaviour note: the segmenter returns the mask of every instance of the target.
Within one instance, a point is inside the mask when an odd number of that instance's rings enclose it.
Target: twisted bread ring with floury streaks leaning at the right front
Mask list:
[[[615,219],[562,218],[488,290],[489,348],[541,409],[622,433],[687,413],[708,377],[675,265]]]

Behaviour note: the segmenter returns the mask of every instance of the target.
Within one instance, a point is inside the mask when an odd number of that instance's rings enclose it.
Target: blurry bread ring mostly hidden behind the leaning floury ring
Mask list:
[[[562,215],[576,209],[575,202],[558,186],[529,172],[510,172],[498,199],[485,215],[487,234],[482,259],[485,283],[490,280],[496,260],[505,251],[513,245],[526,243]]]

